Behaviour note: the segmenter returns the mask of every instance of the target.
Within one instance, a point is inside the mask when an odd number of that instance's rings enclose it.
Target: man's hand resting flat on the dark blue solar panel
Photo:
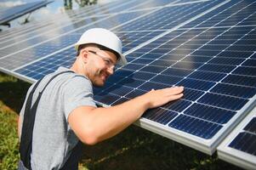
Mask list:
[[[168,103],[169,101],[179,99],[183,96],[183,87],[152,89],[141,97],[149,101],[148,109],[155,108]]]

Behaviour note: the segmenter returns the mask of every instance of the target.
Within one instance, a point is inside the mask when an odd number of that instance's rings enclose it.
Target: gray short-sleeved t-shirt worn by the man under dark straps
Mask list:
[[[62,71],[69,69],[60,67],[43,78],[34,93],[32,103],[49,79]],[[93,98],[92,83],[88,77],[73,72],[63,73],[48,84],[37,107],[32,139],[32,169],[60,169],[65,164],[78,142],[76,134],[67,122],[68,116],[71,111],[82,105],[96,107]],[[22,122],[25,105],[26,102],[20,111]]]

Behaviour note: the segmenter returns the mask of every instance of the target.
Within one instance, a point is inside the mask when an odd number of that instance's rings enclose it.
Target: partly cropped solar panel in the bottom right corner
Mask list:
[[[236,166],[254,169],[256,167],[256,109],[219,145],[218,156]]]

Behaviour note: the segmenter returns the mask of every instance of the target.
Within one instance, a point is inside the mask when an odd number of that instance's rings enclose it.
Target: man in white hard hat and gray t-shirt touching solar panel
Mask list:
[[[32,95],[33,104],[37,103],[39,92],[42,94],[32,131],[31,169],[77,169],[77,152],[82,151],[76,150],[79,140],[97,144],[109,139],[139,119],[147,109],[183,96],[182,87],[164,88],[151,90],[121,105],[97,108],[92,86],[104,86],[115,65],[126,64],[122,42],[111,31],[94,28],[82,34],[75,48],[77,59],[71,69],[60,67],[44,77]],[[54,77],[57,74],[60,75]],[[26,102],[34,87],[35,84],[28,90]],[[20,111],[20,136],[21,130],[22,135],[26,134],[21,126],[26,121],[26,102]],[[19,168],[26,169],[21,161]]]

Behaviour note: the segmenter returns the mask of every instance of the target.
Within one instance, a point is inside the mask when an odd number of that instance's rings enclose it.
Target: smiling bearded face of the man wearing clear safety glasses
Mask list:
[[[85,48],[87,50],[86,71],[94,86],[102,87],[105,81],[114,73],[117,63],[115,54],[99,48]]]

